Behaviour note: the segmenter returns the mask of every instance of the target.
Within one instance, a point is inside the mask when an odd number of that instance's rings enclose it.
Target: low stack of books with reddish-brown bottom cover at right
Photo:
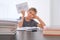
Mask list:
[[[46,27],[43,30],[44,36],[60,36],[60,27]]]

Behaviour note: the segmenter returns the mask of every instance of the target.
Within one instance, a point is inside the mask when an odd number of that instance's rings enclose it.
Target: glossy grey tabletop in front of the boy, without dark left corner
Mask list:
[[[43,36],[43,32],[16,31],[17,40],[60,40],[60,36]]]

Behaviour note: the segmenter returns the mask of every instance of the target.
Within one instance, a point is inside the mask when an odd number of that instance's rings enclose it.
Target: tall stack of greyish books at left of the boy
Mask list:
[[[0,34],[15,34],[17,27],[17,20],[0,20]]]

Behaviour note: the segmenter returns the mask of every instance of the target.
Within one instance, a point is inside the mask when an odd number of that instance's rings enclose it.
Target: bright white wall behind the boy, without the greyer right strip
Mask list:
[[[23,2],[28,2],[29,7],[37,8],[37,15],[47,26],[50,25],[50,0],[0,0],[0,19],[17,19],[19,14],[16,10],[16,4]]]

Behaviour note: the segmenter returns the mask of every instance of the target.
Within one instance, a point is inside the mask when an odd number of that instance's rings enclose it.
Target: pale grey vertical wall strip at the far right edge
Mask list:
[[[51,26],[60,26],[60,0],[51,0]]]

